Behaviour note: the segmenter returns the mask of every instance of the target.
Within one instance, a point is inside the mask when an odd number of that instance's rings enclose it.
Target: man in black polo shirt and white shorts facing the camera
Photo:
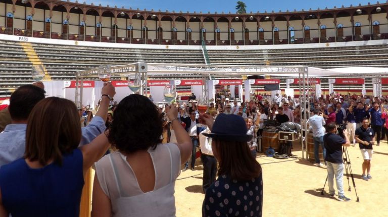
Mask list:
[[[374,144],[374,131],[369,128],[369,120],[364,118],[362,120],[362,126],[356,129],[355,132],[356,141],[359,144],[360,151],[364,158],[364,162],[362,163],[362,176],[361,178],[365,181],[372,179],[370,176],[370,160],[372,159],[373,154],[373,144]],[[367,175],[365,175],[365,170]]]

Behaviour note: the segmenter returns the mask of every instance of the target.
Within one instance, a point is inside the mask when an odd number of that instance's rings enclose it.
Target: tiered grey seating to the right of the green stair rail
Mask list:
[[[318,68],[387,67],[388,45],[325,48],[208,50],[212,64],[310,66]]]

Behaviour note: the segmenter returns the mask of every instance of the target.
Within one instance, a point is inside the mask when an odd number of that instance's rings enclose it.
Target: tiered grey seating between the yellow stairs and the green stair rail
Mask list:
[[[54,80],[74,79],[75,72],[100,65],[134,62],[204,64],[201,50],[128,49],[33,44]]]

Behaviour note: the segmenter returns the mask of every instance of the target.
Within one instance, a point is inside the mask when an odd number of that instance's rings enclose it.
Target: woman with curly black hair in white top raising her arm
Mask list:
[[[192,145],[177,108],[167,116],[177,144],[161,144],[162,120],[147,97],[121,100],[108,137],[118,151],[95,164],[92,216],[175,216],[175,180]]]

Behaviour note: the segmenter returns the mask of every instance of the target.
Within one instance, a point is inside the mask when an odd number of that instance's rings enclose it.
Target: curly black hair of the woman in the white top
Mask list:
[[[156,148],[162,141],[162,124],[154,103],[146,96],[131,94],[117,105],[108,140],[126,153]]]

